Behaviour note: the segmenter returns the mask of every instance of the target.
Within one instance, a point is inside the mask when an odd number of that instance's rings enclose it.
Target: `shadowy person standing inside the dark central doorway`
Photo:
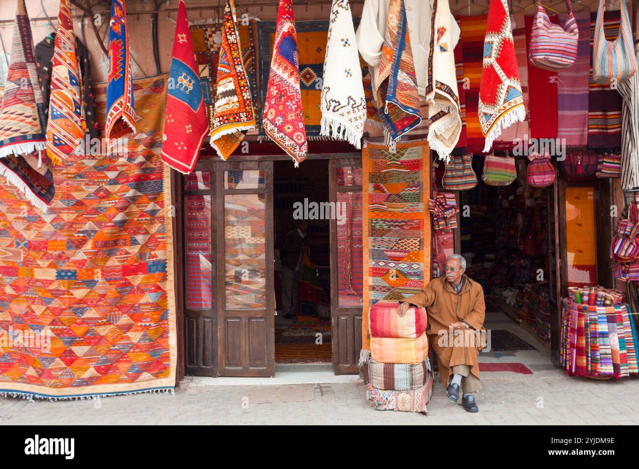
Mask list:
[[[306,236],[306,220],[299,220],[297,227],[284,235],[280,253],[282,270],[282,308],[283,317],[293,319],[297,304],[297,288],[300,284],[300,266],[302,264],[302,249]]]

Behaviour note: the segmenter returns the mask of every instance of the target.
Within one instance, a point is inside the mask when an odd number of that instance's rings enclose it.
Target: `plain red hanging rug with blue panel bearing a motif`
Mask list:
[[[162,161],[174,170],[189,174],[196,165],[208,119],[202,97],[189,19],[184,0],[180,0],[173,40],[171,80],[166,100],[166,119],[162,135]]]

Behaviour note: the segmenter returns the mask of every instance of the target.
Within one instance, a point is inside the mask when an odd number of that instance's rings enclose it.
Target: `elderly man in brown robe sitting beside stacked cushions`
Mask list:
[[[437,355],[437,364],[446,386],[447,396],[459,400],[459,385],[463,389],[463,407],[479,412],[473,392],[481,389],[477,357],[482,348],[480,340],[484,325],[484,291],[464,272],[466,260],[453,254],[446,260],[445,276],[430,281],[416,295],[399,305],[403,315],[410,305],[426,308],[426,333]]]

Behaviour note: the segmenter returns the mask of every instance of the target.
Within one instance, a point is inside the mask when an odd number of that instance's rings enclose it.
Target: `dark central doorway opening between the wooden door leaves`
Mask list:
[[[276,364],[332,362],[328,177],[328,160],[273,162]]]

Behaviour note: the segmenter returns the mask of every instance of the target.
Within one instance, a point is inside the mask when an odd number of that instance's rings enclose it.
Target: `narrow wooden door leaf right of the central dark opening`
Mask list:
[[[357,374],[362,348],[362,160],[331,160],[330,293],[335,375]],[[339,216],[339,220],[338,220]]]

